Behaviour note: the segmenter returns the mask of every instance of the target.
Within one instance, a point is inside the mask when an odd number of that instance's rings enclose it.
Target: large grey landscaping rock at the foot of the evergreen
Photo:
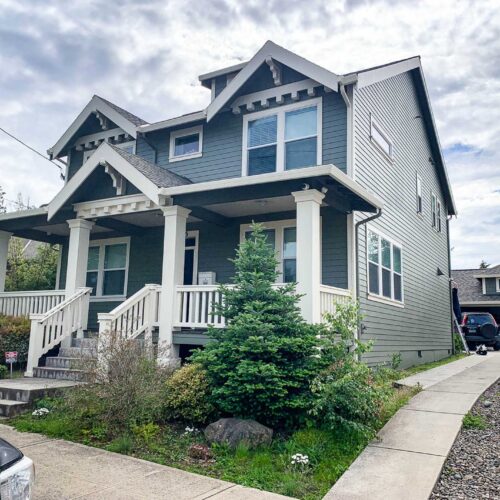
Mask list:
[[[210,444],[227,444],[230,448],[236,448],[239,444],[256,448],[271,444],[273,430],[255,420],[221,418],[207,426],[205,438]]]

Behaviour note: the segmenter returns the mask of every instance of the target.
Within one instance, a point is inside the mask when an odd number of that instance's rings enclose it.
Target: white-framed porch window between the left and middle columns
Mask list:
[[[127,289],[129,238],[92,241],[87,286],[94,297],[124,297]]]

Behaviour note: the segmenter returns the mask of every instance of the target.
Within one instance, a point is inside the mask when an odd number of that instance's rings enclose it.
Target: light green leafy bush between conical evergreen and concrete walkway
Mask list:
[[[371,348],[356,339],[360,322],[356,304],[338,305],[326,315],[322,332],[322,358],[328,367],[312,383],[314,401],[310,414],[332,430],[372,434],[381,415],[386,391],[359,356]]]

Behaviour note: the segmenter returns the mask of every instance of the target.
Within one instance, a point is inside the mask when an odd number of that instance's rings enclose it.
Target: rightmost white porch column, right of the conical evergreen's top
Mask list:
[[[302,316],[308,323],[321,321],[321,219],[325,195],[315,189],[292,193],[297,205],[297,292]]]

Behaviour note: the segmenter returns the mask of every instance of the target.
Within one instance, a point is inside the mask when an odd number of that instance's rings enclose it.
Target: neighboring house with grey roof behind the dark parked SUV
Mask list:
[[[489,312],[500,324],[500,264],[487,269],[456,269],[451,272],[458,285],[463,312]]]

